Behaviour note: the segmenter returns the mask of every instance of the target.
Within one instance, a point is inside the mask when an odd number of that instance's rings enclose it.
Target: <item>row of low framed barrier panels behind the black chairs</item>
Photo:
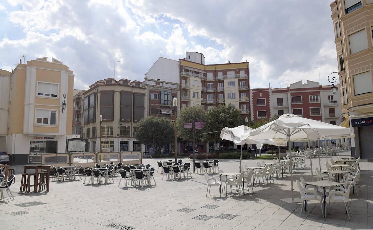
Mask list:
[[[107,163],[141,164],[141,152],[62,152],[41,154],[42,165],[69,166],[82,165],[83,167]]]

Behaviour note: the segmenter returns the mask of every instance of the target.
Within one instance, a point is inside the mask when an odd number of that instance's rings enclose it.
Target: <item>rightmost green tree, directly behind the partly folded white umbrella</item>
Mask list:
[[[211,107],[207,111],[207,128],[209,129],[206,135],[203,135],[203,140],[207,142],[220,142],[220,132],[214,132],[222,130],[224,127],[236,127],[244,125],[244,120],[241,118],[241,111],[233,107],[233,105],[222,105],[218,107]],[[228,148],[229,141],[222,141],[223,144]]]

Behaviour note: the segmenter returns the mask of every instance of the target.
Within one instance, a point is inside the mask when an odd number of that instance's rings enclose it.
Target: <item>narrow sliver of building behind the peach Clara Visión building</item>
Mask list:
[[[74,89],[73,108],[72,108],[72,135],[82,135],[83,129],[83,93],[85,89]]]

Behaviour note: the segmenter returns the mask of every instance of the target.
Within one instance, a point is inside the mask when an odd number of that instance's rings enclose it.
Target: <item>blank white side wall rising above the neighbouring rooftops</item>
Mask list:
[[[164,57],[160,57],[145,73],[145,78],[173,83],[179,83],[179,76],[179,62]]]

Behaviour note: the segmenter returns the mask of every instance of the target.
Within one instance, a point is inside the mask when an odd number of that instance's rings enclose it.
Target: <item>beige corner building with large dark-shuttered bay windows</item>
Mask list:
[[[145,146],[134,136],[137,123],[145,117],[145,94],[142,82],[128,79],[107,78],[90,85],[82,93],[83,138],[88,139],[88,151],[100,151],[101,135],[103,152],[144,152]]]

